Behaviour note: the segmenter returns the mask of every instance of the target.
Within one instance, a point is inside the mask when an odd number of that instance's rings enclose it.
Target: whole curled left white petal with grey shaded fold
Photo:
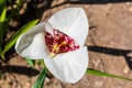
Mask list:
[[[44,32],[47,26],[45,22],[40,23],[22,34],[15,44],[16,52],[23,57],[33,59],[46,57]]]

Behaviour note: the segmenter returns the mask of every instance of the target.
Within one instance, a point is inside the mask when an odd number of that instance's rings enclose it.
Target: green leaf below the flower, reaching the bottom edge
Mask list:
[[[43,68],[42,72],[40,73],[36,81],[34,82],[34,86],[33,88],[43,88],[43,85],[44,85],[44,80],[45,80],[45,77],[46,77],[46,73],[47,73],[47,68]]]

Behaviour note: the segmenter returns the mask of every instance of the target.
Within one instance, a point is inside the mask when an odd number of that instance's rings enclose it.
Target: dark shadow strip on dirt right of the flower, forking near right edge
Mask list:
[[[120,50],[120,48],[88,45],[88,51],[114,55],[114,56],[123,56],[125,58],[125,62],[128,63],[129,67],[132,69],[132,57],[129,56],[129,54],[132,53],[132,50]]]

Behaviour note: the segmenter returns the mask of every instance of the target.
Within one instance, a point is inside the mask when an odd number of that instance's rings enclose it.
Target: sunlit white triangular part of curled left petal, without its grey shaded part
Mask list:
[[[47,58],[47,50],[44,41],[44,33],[38,33],[34,36],[33,42],[21,53],[24,57],[32,59]]]

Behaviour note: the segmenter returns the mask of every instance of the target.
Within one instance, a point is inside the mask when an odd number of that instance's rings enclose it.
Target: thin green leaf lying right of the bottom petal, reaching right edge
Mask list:
[[[130,79],[130,78],[125,78],[125,77],[121,77],[121,76],[117,76],[117,75],[111,75],[111,74],[102,73],[100,70],[96,70],[96,69],[91,69],[91,68],[88,68],[86,70],[86,73],[89,74],[89,75],[105,76],[105,77],[111,77],[111,78],[118,78],[118,79],[123,79],[123,80],[132,81],[132,79]]]

